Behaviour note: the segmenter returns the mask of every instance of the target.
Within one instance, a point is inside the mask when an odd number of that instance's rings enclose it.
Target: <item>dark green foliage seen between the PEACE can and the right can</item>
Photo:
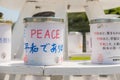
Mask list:
[[[89,31],[88,18],[85,12],[68,13],[69,31]]]

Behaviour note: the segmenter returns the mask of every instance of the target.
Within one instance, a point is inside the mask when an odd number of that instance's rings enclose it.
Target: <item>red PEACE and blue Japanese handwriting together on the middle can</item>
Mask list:
[[[64,50],[63,32],[64,28],[34,26],[25,28],[24,49],[26,53],[50,53],[60,54]]]

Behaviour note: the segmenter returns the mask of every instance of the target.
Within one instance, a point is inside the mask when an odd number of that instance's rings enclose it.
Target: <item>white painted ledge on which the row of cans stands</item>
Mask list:
[[[11,75],[6,80],[28,80],[28,79],[50,80],[51,76],[60,76],[60,75],[61,76],[108,75],[108,74],[119,74],[120,73],[119,70],[120,70],[120,64],[99,65],[99,64],[91,64],[91,62],[89,61],[86,62],[64,61],[62,64],[54,65],[54,66],[25,65],[23,61],[11,61],[0,64],[0,73]],[[6,77],[7,76],[8,75],[6,75]],[[20,78],[21,76],[22,78]],[[10,77],[12,77],[12,79],[10,79]],[[119,80],[118,75],[115,75],[115,78],[116,78],[115,80]]]

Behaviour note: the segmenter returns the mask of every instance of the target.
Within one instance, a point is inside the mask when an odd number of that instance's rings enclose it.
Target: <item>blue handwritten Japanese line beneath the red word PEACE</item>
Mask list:
[[[56,44],[56,43],[45,43],[40,44],[37,46],[35,43],[25,43],[25,50],[29,53],[37,53],[37,52],[43,52],[43,53],[61,53],[63,51],[63,44]]]

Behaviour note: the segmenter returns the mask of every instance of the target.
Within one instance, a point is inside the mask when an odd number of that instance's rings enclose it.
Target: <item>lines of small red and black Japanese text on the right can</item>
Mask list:
[[[99,45],[103,50],[116,50],[120,49],[120,32],[94,32],[96,40],[99,41]]]

